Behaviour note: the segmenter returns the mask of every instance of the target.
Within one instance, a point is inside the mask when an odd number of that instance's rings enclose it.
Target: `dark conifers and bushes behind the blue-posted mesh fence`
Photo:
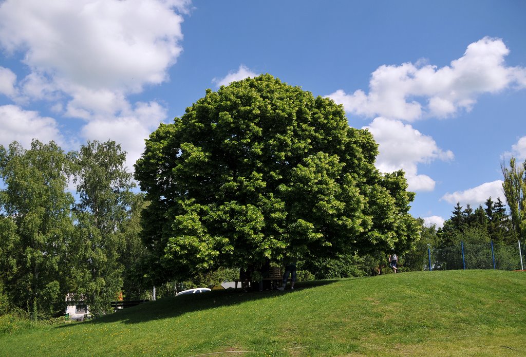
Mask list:
[[[518,232],[500,198],[485,201],[485,208],[465,209],[460,203],[443,227],[426,227],[423,220],[416,249],[401,254],[402,269],[520,269]],[[430,256],[428,256],[428,248]],[[524,251],[522,252],[524,256]],[[526,257],[525,257],[526,258]]]

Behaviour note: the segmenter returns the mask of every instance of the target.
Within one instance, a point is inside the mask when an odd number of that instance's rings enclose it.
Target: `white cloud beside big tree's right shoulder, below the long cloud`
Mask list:
[[[368,129],[378,143],[380,154],[376,167],[381,172],[392,172],[403,169],[412,191],[432,191],[435,182],[427,175],[419,175],[418,164],[428,164],[433,160],[451,160],[453,152],[443,151],[430,137],[400,120],[378,117]]]

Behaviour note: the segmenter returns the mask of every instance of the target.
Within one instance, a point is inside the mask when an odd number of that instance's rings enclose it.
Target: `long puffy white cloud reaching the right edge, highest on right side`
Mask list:
[[[508,67],[509,49],[501,39],[484,37],[468,46],[450,66],[404,63],[382,65],[371,75],[369,93],[357,90],[329,95],[348,113],[413,121],[448,117],[471,110],[482,93],[526,87],[526,68]],[[419,99],[419,100],[417,100]]]

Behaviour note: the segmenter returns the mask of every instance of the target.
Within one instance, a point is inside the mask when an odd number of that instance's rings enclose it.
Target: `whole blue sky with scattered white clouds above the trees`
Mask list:
[[[270,73],[343,104],[404,169],[411,213],[440,226],[457,201],[501,192],[526,158],[524,1],[5,0],[0,145],[120,142],[133,166],[159,123]]]

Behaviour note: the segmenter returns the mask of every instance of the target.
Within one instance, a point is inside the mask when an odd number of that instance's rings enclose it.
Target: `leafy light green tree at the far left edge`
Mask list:
[[[33,318],[64,308],[73,233],[72,158],[55,142],[0,146],[0,265],[6,295]]]

